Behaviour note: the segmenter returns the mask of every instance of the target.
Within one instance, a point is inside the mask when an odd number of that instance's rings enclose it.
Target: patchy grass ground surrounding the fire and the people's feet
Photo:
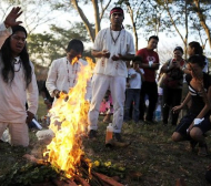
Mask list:
[[[43,101],[40,101],[39,117],[47,112]],[[204,178],[211,156],[199,157],[197,152],[190,152],[189,143],[173,143],[171,135],[174,126],[139,125],[129,122],[122,127],[122,136],[131,145],[124,148],[108,148],[104,145],[107,124],[99,117],[98,140],[84,138],[86,156],[92,163],[101,166],[93,167],[109,176],[119,176],[120,182],[128,186],[174,186],[178,178],[184,178],[187,186],[207,186]],[[37,131],[30,131],[30,146],[28,148],[11,147],[0,143],[0,175],[10,173],[18,163],[26,164],[22,155],[26,153],[41,157],[44,145],[37,142]],[[211,146],[211,137],[207,137]],[[111,163],[107,166],[107,163]],[[104,165],[105,163],[105,165]]]

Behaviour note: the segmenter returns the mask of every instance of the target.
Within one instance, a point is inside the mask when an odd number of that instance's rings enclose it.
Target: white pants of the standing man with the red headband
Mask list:
[[[98,130],[100,103],[108,89],[113,101],[113,132],[121,133],[123,123],[123,105],[125,100],[125,78],[94,74],[92,78],[92,100],[88,114],[89,130]]]

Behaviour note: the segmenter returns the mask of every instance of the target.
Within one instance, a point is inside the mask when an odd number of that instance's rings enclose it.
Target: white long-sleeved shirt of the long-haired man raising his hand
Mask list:
[[[24,123],[27,118],[26,103],[28,111],[36,114],[38,110],[38,85],[32,66],[32,79],[27,87],[22,62],[14,64],[14,79],[6,83],[0,75],[0,122]],[[0,58],[0,72],[2,59]]]

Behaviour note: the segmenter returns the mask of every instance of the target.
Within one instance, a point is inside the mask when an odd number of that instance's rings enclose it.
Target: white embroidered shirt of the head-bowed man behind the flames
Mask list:
[[[68,61],[67,56],[54,60],[49,69],[47,78],[47,89],[50,95],[53,97],[53,91],[57,89],[59,91],[69,92],[71,87],[77,84],[77,75],[80,71],[81,65],[87,65],[87,61],[80,59],[73,65]],[[91,97],[91,85],[88,82],[86,100]]]

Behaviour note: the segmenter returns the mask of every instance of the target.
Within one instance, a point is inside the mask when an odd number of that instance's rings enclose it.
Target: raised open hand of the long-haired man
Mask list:
[[[7,28],[22,23],[22,21],[17,21],[17,18],[19,18],[22,13],[22,11],[20,11],[20,10],[21,10],[20,7],[14,7],[10,11],[10,13],[7,16],[7,18],[4,20],[4,24]]]

